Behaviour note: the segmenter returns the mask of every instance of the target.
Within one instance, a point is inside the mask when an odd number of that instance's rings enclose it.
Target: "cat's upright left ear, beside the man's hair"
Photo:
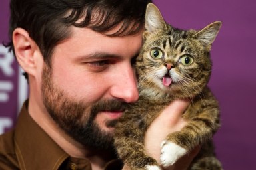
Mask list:
[[[145,22],[145,28],[149,32],[167,27],[159,9],[153,3],[147,5]]]

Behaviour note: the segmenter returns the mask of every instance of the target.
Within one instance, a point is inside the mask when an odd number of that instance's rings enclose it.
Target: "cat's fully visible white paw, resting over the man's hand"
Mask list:
[[[173,165],[180,157],[187,153],[187,150],[169,141],[161,143],[160,161],[163,167]]]

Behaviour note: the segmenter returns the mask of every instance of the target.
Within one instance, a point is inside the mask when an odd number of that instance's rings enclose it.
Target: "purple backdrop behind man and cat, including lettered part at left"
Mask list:
[[[255,169],[256,163],[256,3],[254,0],[155,0],[174,27],[201,29],[213,21],[223,27],[211,52],[213,73],[209,86],[221,106],[222,127],[215,135],[217,156],[224,169]],[[7,41],[9,0],[0,6],[0,41]],[[0,133],[15,123],[27,94],[15,60],[0,46]]]

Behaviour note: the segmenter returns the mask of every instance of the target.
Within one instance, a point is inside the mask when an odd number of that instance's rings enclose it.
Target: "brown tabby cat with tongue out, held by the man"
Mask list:
[[[207,87],[211,74],[210,49],[221,27],[211,23],[200,31],[168,25],[152,3],[147,6],[143,47],[136,61],[139,100],[127,104],[115,129],[119,157],[131,169],[161,169],[173,165],[202,145],[190,169],[222,169],[212,144],[219,128],[218,102]],[[145,131],[172,100],[189,98],[183,114],[188,124],[167,135],[161,144],[161,165],[145,153]],[[161,130],[161,129],[159,129]]]

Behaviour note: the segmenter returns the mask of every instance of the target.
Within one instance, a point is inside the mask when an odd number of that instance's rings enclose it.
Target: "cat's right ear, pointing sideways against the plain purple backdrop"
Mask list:
[[[219,33],[219,29],[221,28],[221,22],[216,21],[207,25],[205,28],[201,29],[193,37],[203,42],[206,46],[213,44],[217,34]]]

